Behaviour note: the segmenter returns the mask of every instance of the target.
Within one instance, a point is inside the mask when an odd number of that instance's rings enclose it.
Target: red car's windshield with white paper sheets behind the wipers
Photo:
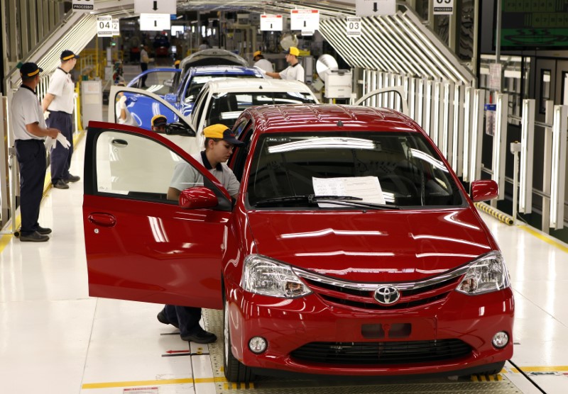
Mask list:
[[[419,133],[261,135],[247,193],[249,204],[262,208],[361,209],[357,201],[392,208],[465,203],[447,167]],[[322,203],[312,195],[349,196],[351,202]]]

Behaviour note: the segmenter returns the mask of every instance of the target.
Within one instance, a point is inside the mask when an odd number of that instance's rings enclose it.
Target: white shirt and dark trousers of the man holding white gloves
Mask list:
[[[75,84],[71,79],[71,74],[61,67],[55,69],[49,82],[48,93],[53,94],[54,98],[48,107],[50,115],[46,123],[49,128],[60,130],[63,137],[67,138],[71,145],[67,149],[63,145],[57,144],[51,150],[51,183],[54,185],[60,179],[65,181],[70,177],[69,167],[73,154],[74,91]]]

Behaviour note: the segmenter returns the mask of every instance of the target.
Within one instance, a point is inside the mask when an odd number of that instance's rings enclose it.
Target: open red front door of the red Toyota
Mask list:
[[[89,295],[222,308],[229,193],[187,152],[157,133],[90,122],[86,144],[83,225]],[[183,162],[201,175],[194,186],[209,189],[216,206],[182,208],[168,200],[173,170]]]

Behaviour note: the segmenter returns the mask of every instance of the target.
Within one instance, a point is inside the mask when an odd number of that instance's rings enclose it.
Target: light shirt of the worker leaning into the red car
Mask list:
[[[226,191],[229,192],[229,196],[234,196],[239,193],[239,181],[236,180],[233,171],[227,167],[226,164],[217,164],[217,167],[212,168],[211,164],[207,161],[205,156],[205,151],[201,153],[192,154],[191,157],[203,164],[203,167],[209,170],[209,172],[217,178],[219,183],[221,183]],[[187,162],[178,163],[173,171],[172,181],[170,182],[170,187],[177,188],[179,191],[185,190],[193,186],[203,186],[203,176],[197,169],[192,167]]]

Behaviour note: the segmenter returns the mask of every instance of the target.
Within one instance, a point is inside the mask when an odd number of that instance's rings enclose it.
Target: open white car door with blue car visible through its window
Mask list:
[[[173,103],[153,94],[151,91],[126,86],[112,86],[109,93],[109,123],[119,123],[118,111],[120,111],[120,108],[116,103],[118,103],[121,95],[126,96],[126,110],[131,113],[139,127],[152,130],[151,120],[153,116],[163,115],[168,118],[169,127],[166,128],[165,133],[160,134],[190,154],[203,150],[204,137],[202,133],[195,133],[190,117],[182,115]]]

